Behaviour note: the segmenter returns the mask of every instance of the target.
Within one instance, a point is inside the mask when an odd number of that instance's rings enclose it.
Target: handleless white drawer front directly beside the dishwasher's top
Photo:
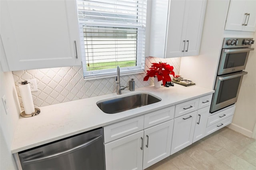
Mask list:
[[[104,142],[121,138],[143,129],[144,116],[135,117],[104,127]]]

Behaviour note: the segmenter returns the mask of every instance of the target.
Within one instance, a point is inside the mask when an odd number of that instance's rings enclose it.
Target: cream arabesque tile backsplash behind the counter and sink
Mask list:
[[[173,65],[175,74],[179,74],[180,57],[171,59],[146,57],[145,70],[148,70],[151,63],[159,61]],[[19,82],[29,79],[36,79],[38,86],[38,91],[32,92],[35,107],[53,105],[116,92],[115,77],[84,80],[83,69],[81,66],[13,71],[12,74],[22,109],[23,104],[18,86],[20,85]],[[126,86],[128,85],[129,80],[133,78],[135,81],[135,90],[136,88],[152,85],[152,80],[143,81],[144,76],[145,73],[120,76],[120,83],[121,85]]]

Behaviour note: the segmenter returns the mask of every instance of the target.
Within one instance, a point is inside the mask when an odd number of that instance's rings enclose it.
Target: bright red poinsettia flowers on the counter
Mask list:
[[[144,77],[144,81],[148,81],[149,77],[157,77],[158,81],[163,81],[163,85],[165,85],[166,81],[172,81],[170,74],[175,76],[173,71],[173,66],[170,66],[167,63],[152,63],[151,68],[147,70],[146,76]]]

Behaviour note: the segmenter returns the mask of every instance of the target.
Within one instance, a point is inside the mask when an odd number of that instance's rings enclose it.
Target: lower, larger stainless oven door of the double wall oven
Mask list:
[[[217,76],[210,112],[213,113],[236,103],[246,71]]]

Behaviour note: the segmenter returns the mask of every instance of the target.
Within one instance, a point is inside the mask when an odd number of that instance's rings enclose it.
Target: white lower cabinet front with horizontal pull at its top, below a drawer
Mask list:
[[[192,144],[196,113],[197,111],[194,111],[174,119],[171,154]]]

